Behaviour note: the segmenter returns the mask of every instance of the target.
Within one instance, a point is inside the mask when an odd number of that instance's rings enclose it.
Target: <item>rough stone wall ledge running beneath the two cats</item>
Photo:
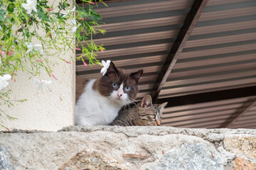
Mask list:
[[[0,146],[14,169],[256,169],[256,130],[245,129],[13,130],[0,133]]]

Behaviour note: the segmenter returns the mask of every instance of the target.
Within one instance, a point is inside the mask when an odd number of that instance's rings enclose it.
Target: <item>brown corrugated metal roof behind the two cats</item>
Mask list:
[[[107,1],[96,8],[107,31],[94,37],[106,48],[97,58],[144,69],[137,101],[169,101],[163,125],[256,128],[256,1],[200,2]],[[100,66],[76,68],[100,77]]]

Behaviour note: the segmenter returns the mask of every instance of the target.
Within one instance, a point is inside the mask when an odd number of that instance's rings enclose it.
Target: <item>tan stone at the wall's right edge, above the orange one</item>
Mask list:
[[[247,155],[250,159],[256,159],[255,135],[227,135],[224,139],[224,147],[235,154]]]

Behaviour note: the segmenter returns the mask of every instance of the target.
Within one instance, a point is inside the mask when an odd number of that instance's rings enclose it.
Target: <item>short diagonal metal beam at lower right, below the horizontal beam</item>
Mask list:
[[[242,115],[245,115],[245,113],[247,113],[252,106],[255,106],[255,104],[256,98],[249,98],[240,108],[238,108],[237,111],[235,111],[234,114],[230,116],[230,118],[225,121],[225,123],[220,125],[220,128],[230,128],[235,124],[236,121],[239,120],[239,118],[242,117]]]

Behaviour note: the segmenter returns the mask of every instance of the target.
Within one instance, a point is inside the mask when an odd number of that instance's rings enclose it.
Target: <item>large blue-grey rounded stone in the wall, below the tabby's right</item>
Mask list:
[[[223,158],[214,147],[203,143],[184,144],[164,154],[149,170],[165,169],[223,169]]]

